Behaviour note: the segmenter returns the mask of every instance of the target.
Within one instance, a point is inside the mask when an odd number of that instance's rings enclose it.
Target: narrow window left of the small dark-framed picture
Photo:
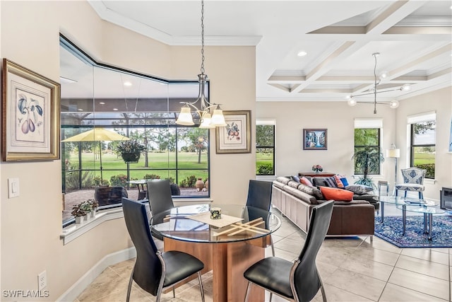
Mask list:
[[[275,175],[273,121],[256,121],[256,175]]]

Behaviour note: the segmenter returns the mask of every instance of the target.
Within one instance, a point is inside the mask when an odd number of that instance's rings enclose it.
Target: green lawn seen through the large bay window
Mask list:
[[[201,153],[201,163],[198,163],[198,154],[195,152],[179,152],[177,154],[179,175],[178,183],[195,175],[196,178],[208,178],[207,154]],[[69,158],[71,167],[78,168],[78,153],[71,153]],[[99,154],[82,153],[81,156],[83,170],[95,170],[94,175],[100,177],[100,158]],[[149,152],[148,167],[145,167],[145,156],[141,155],[138,163],[129,164],[131,178],[142,179],[146,174],[160,175],[160,178],[174,178],[176,180],[176,171],[168,170],[176,168],[175,152]],[[163,170],[160,170],[163,169]],[[187,169],[187,170],[181,170]],[[203,169],[203,170],[196,170]],[[121,156],[115,153],[102,153],[102,178],[109,180],[112,175],[127,173],[127,165]]]

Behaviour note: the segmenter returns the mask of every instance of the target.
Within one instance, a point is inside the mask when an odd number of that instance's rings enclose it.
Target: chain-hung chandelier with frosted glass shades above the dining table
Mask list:
[[[181,102],[185,105],[181,108],[176,124],[183,124],[186,126],[194,125],[193,116],[191,115],[191,108],[193,108],[199,115],[200,128],[226,126],[225,117],[223,116],[220,104],[210,103],[205,95],[207,74],[204,74],[204,71],[204,1],[201,0],[201,74],[198,74],[198,98],[196,98],[194,102]],[[199,103],[199,108],[196,107],[196,103]],[[210,110],[213,110],[212,115],[210,115]]]

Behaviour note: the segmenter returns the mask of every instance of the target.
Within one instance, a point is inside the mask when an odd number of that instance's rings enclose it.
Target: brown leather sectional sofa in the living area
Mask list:
[[[359,197],[362,198],[359,194],[353,194],[351,201],[335,200],[327,236],[374,235],[374,215],[379,204],[376,199],[371,198],[373,196],[367,196],[369,200],[374,200],[373,204],[367,200],[359,199]],[[280,210],[284,216],[287,216],[306,233],[309,227],[311,209],[316,204],[326,201],[327,199],[323,197],[318,187],[304,185],[287,177],[278,177],[273,180],[273,207]]]

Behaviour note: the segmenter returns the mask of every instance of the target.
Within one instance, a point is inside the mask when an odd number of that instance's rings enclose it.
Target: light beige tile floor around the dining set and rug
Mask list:
[[[275,210],[279,215],[279,212]],[[285,217],[273,234],[277,257],[294,260],[305,234]],[[266,255],[271,255],[267,248]],[[107,267],[76,302],[125,301],[134,260]],[[452,248],[396,248],[374,236],[327,238],[317,256],[317,267],[326,288],[328,301],[451,301]],[[212,301],[212,276],[203,276],[206,301]],[[268,295],[267,295],[268,297]],[[268,298],[266,299],[268,301]],[[155,301],[136,284],[131,301]],[[197,281],[191,281],[162,301],[201,301]],[[275,302],[285,301],[273,296]],[[322,301],[317,294],[314,301]]]

